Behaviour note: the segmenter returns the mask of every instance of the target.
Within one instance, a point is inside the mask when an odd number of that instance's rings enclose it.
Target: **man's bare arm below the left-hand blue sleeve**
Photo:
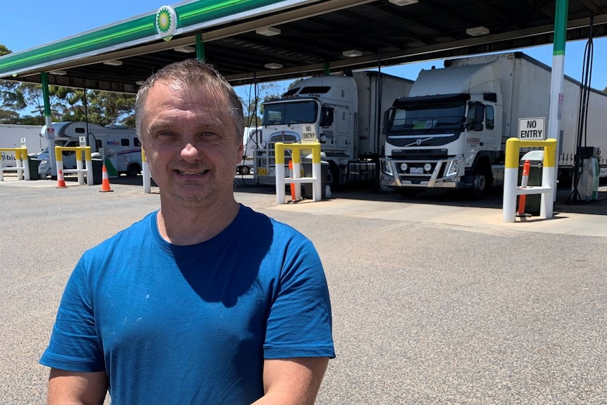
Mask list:
[[[47,405],[102,405],[108,391],[105,371],[76,373],[51,368]]]

